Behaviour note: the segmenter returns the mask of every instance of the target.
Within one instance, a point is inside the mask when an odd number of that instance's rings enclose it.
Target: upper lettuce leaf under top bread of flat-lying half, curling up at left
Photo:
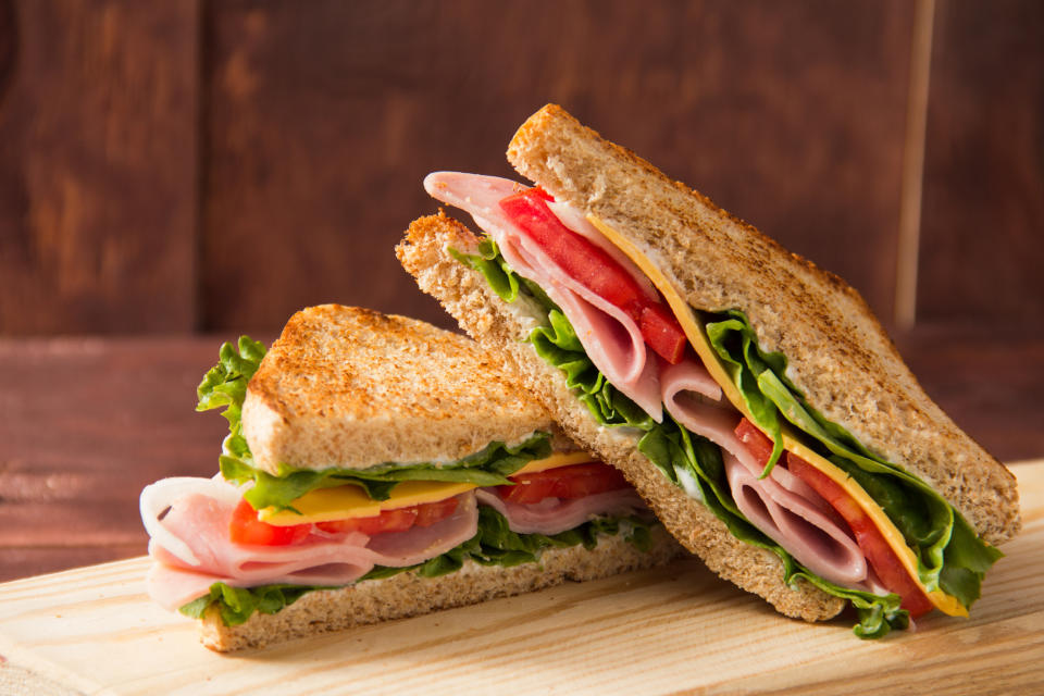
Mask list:
[[[197,388],[197,411],[224,407],[228,436],[219,457],[222,475],[237,484],[253,482],[244,495],[254,509],[274,507],[293,510],[291,502],[315,488],[355,484],[374,500],[387,500],[402,481],[447,481],[476,486],[510,485],[508,478],[534,459],[551,455],[550,434],[537,432],[515,445],[493,442],[473,455],[448,464],[417,463],[403,467],[394,462],[368,469],[298,469],[279,464],[276,474],[254,465],[247,438],[243,436],[243,401],[247,383],[258,371],[265,348],[249,336],[239,338],[238,350],[232,344],[221,347],[220,362]]]

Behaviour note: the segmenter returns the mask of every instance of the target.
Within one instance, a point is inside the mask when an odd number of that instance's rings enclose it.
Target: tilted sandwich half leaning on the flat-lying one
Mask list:
[[[880,637],[968,616],[1014,476],[923,391],[859,294],[547,105],[508,160],[430,174],[397,254],[707,566]]]

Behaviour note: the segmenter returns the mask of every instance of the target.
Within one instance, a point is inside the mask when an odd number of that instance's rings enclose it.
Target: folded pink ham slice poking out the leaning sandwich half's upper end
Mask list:
[[[508,265],[539,285],[561,308],[587,357],[606,378],[657,422],[662,419],[656,361],[646,350],[637,323],[572,278],[501,211],[500,201],[525,190],[524,186],[495,176],[435,172],[424,178],[424,188],[437,200],[471,214],[475,224],[497,243]],[[576,224],[574,217],[566,217]],[[593,226],[581,234],[600,236]],[[598,244],[612,246],[605,239]],[[633,264],[630,269],[641,274]],[[642,283],[645,288],[648,285],[648,279]]]

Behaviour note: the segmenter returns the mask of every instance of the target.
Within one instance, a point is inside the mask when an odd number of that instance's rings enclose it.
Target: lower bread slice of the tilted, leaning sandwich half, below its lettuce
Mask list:
[[[845,602],[803,580],[783,582],[779,557],[734,537],[703,504],[672,485],[637,451],[637,435],[601,426],[566,384],[561,371],[544,362],[523,340],[538,320],[497,297],[481,273],[458,262],[452,248],[474,252],[478,237],[444,213],[414,221],[396,247],[403,268],[425,293],[475,339],[498,348],[505,369],[542,399],[566,434],[620,469],[667,529],[710,570],[768,600],[788,617],[818,621],[836,616]]]

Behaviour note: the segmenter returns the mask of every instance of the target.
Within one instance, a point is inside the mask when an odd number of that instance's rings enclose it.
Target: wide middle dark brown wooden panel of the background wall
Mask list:
[[[437,169],[511,175],[557,101],[891,312],[906,2],[209,5],[202,322],[448,326],[391,254]]]

